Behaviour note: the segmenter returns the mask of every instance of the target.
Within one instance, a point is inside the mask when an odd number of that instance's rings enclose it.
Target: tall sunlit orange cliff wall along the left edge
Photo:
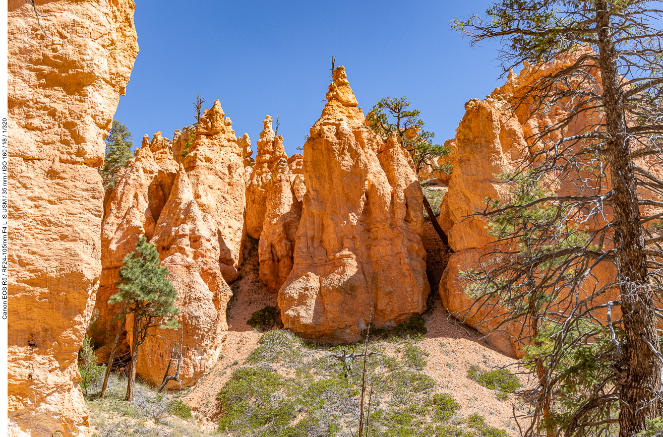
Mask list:
[[[8,5],[10,436],[90,436],[77,353],[101,275],[103,162],[138,53],[132,0]],[[58,317],[54,317],[58,314]]]

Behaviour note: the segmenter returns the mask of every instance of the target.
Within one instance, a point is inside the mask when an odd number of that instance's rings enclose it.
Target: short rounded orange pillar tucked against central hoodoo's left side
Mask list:
[[[302,202],[291,179],[287,161],[279,158],[266,189],[265,220],[258,245],[260,279],[274,291],[292,271],[294,238],[302,217]]]

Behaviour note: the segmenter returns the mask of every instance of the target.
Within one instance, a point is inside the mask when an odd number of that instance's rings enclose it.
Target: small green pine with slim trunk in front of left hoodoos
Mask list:
[[[175,308],[177,290],[168,281],[168,267],[159,265],[159,254],[153,244],[141,237],[136,251],[129,253],[119,271],[119,292],[108,300],[109,305],[123,302],[123,312],[118,317],[133,316],[133,341],[131,342],[131,365],[129,365],[129,381],[127,396],[133,399],[136,379],[136,361],[138,347],[150,336],[152,328],[178,328],[174,316],[180,314]]]

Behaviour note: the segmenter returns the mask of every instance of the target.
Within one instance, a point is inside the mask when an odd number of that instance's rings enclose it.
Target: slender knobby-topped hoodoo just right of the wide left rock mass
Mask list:
[[[276,137],[272,129],[272,117],[265,116],[265,128],[256,142],[257,155],[251,180],[247,185],[247,233],[255,239],[260,238],[263,231],[263,221],[267,212],[267,186],[271,179],[272,170],[280,158],[288,158],[283,148],[283,137]]]

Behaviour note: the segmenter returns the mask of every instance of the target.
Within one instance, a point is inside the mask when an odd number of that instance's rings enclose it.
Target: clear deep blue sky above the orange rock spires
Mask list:
[[[265,114],[280,117],[288,155],[304,144],[330,82],[331,56],[345,66],[366,113],[381,97],[406,95],[436,142],[455,135],[463,104],[483,98],[501,74],[497,42],[470,47],[454,18],[483,15],[488,1],[136,2],[140,53],[115,119],[140,146],[192,124],[196,92],[215,99],[254,145]]]

